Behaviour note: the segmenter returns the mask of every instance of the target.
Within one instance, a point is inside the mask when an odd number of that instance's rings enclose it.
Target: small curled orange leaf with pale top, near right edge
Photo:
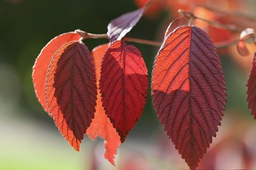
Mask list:
[[[242,56],[248,56],[250,54],[250,52],[248,51],[248,48],[246,47],[246,44],[244,42],[244,40],[246,40],[248,38],[252,38],[255,41],[256,35],[255,35],[254,29],[246,28],[240,34],[240,38],[236,45],[236,49],[237,49],[238,53]]]

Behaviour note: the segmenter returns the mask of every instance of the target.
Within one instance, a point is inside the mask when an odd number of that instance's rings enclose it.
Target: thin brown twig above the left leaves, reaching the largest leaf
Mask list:
[[[108,38],[107,34],[93,34],[93,33],[88,33],[86,31],[82,31],[80,29],[76,29],[75,32],[83,37],[82,41],[87,38]],[[160,47],[162,45],[162,42],[150,41],[146,39],[138,39],[138,38],[132,38],[132,37],[124,37],[124,41],[152,45],[156,47]]]

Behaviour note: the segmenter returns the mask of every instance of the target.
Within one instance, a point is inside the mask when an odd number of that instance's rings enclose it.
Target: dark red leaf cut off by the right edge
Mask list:
[[[252,68],[250,71],[249,79],[246,84],[247,87],[247,103],[251,114],[254,115],[256,119],[256,52],[252,58]]]

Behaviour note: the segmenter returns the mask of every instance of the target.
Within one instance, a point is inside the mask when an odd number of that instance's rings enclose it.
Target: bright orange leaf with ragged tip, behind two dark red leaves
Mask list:
[[[95,47],[92,50],[92,56],[94,58],[95,64],[95,72],[96,72],[96,84],[97,88],[99,88],[99,79],[100,79],[100,63],[105,52],[108,49],[108,44],[100,45]],[[97,100],[96,100],[96,112],[94,114],[94,119],[92,119],[92,123],[90,127],[88,127],[86,131],[86,135],[92,140],[96,139],[98,136],[105,139],[105,154],[104,157],[108,159],[108,161],[115,165],[114,158],[116,155],[116,150],[120,145],[120,137],[114,129],[112,123],[109,118],[105,114],[105,111],[102,107],[100,90],[97,89]]]

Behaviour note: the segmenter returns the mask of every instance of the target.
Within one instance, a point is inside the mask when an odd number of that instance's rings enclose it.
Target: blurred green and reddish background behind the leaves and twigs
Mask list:
[[[150,90],[138,124],[120,145],[116,167],[104,159],[102,139],[84,137],[81,151],[73,150],[38,103],[32,84],[32,66],[50,39],[82,29],[106,33],[110,20],[137,9],[144,0],[0,0],[0,169],[1,170],[167,170],[188,166],[174,149],[152,109]],[[155,6],[128,34],[130,37],[162,41],[167,25],[178,17],[179,8],[204,18],[238,27],[256,27],[256,21],[211,12],[204,5],[254,15],[255,0],[169,0]],[[198,5],[202,4],[202,5]],[[160,7],[159,7],[160,8]],[[254,15],[254,17],[256,17]],[[239,35],[195,21],[215,43]],[[92,50],[107,39],[86,39]],[[135,44],[142,52],[151,78],[158,48]],[[246,80],[250,56],[241,57],[236,47],[220,49],[227,84],[228,102],[217,138],[199,168],[256,169],[256,121],[246,103]]]

